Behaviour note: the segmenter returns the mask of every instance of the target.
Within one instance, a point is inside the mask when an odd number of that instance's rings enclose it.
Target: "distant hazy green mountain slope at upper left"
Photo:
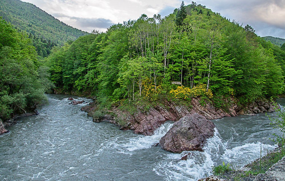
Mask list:
[[[28,34],[63,44],[88,34],[60,22],[33,4],[20,0],[0,0],[0,16]]]

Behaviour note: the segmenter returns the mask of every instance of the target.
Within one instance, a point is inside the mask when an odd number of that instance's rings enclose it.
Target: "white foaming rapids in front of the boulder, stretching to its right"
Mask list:
[[[215,128],[214,136],[207,139],[204,152],[169,153],[153,170],[160,176],[166,176],[166,180],[197,181],[211,175],[212,167],[219,165],[221,161],[231,165],[245,165],[248,163],[249,158],[251,160],[257,159],[260,157],[260,146],[262,147],[262,156],[275,148],[274,145],[257,142],[227,149],[227,142],[222,141],[218,130]],[[188,159],[186,161],[180,160],[187,153],[190,153]]]

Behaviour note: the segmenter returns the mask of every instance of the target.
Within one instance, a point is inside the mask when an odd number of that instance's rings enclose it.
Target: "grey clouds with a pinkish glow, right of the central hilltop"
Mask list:
[[[285,12],[285,0],[197,0],[196,2],[231,20],[251,25],[259,36],[285,38],[285,19],[281,18],[282,12]],[[272,7],[277,9],[270,9]]]

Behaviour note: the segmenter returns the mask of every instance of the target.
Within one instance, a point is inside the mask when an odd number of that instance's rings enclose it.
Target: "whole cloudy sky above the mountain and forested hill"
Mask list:
[[[22,0],[32,3],[70,26],[91,32],[137,19],[141,14],[166,16],[182,0]],[[193,0],[185,0],[186,5]],[[285,0],[196,0],[222,16],[249,24],[259,36],[285,38]]]

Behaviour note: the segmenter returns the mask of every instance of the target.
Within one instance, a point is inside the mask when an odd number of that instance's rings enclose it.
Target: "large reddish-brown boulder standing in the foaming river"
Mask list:
[[[214,136],[214,128],[213,122],[198,113],[187,115],[175,122],[159,143],[173,153],[202,151],[205,140]]]

